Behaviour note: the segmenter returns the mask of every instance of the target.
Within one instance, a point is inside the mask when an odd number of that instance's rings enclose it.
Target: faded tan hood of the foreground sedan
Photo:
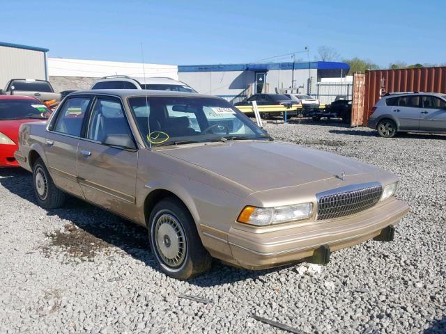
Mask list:
[[[252,191],[265,191],[346,176],[379,168],[336,154],[272,141],[234,141],[181,145],[164,154],[206,168]]]

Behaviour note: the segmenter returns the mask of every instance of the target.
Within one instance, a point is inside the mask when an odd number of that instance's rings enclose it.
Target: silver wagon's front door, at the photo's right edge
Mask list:
[[[436,96],[422,97],[420,130],[446,132],[446,101]]]

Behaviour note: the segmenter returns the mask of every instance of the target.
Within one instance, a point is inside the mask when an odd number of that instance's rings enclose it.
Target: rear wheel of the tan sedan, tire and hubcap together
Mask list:
[[[44,209],[57,209],[65,202],[66,194],[56,188],[42,158],[33,166],[33,189],[38,205]]]

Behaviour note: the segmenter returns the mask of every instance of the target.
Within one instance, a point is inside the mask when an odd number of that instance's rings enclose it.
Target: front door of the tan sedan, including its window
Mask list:
[[[138,152],[114,145],[123,136],[133,138],[121,101],[98,97],[79,141],[77,173],[86,200],[136,220]]]

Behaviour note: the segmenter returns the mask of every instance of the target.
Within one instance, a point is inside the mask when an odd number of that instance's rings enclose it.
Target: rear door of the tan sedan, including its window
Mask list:
[[[49,125],[45,141],[47,167],[54,183],[81,198],[84,196],[77,182],[77,145],[91,100],[91,96],[68,97]]]

